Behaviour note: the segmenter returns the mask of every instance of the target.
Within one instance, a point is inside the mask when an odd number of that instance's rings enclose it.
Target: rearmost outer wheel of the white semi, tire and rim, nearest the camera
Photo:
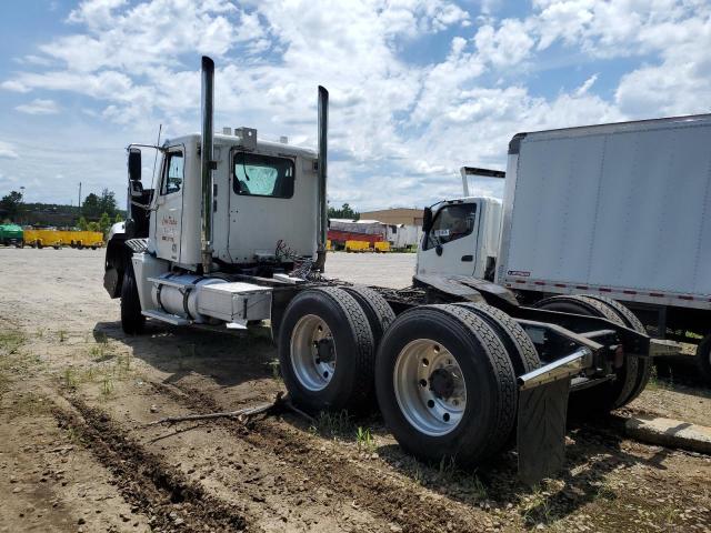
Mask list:
[[[471,466],[499,452],[513,431],[515,373],[497,332],[451,304],[400,314],[375,358],[385,425],[425,461]]]

